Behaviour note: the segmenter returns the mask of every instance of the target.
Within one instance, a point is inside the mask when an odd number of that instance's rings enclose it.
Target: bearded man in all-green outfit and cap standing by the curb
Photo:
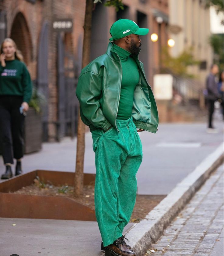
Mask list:
[[[156,133],[159,122],[152,89],[138,60],[139,35],[148,32],[132,20],[117,20],[110,28],[113,42],[82,69],[76,89],[96,154],[95,210],[105,256],[135,256],[122,232],[135,205],[136,173],[142,162],[138,132]]]

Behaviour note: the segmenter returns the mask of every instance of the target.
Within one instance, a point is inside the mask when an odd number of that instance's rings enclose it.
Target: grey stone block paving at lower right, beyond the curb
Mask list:
[[[153,256],[222,256],[223,255],[223,168],[198,190],[183,211],[152,244]],[[216,249],[217,250],[214,250]]]

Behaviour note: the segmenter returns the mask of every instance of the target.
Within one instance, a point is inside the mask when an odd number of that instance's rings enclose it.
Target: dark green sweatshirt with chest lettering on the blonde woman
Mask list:
[[[6,60],[0,65],[0,95],[23,96],[29,103],[32,96],[32,82],[26,65],[18,59]]]

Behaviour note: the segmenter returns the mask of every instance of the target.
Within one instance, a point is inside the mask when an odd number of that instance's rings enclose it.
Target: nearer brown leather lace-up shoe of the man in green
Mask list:
[[[114,243],[105,247],[105,256],[135,256],[135,252],[128,248],[124,236],[121,236]]]

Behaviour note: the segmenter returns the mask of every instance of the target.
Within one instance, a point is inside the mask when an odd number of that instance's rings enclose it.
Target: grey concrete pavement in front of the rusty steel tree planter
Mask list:
[[[129,223],[125,231],[132,225]],[[100,256],[102,253],[97,222],[0,218],[0,227],[1,256]]]

